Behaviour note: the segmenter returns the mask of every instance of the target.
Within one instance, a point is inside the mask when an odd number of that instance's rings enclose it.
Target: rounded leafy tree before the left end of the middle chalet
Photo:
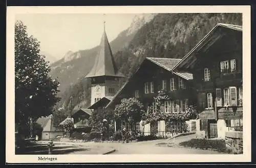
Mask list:
[[[124,98],[116,105],[114,117],[126,122],[135,122],[141,119],[143,113],[143,104],[137,98]]]

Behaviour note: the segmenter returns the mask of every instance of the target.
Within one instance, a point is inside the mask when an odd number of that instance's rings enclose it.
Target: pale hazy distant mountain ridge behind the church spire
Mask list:
[[[127,48],[138,29],[149,22],[154,15],[155,14],[136,15],[131,26],[120,32],[119,35],[110,42],[113,54],[123,48]],[[61,84],[59,87],[60,95],[66,89],[69,89],[70,86],[74,85],[81,77],[87,75],[94,64],[98,49],[99,46],[76,52],[68,51],[63,58],[51,64],[50,73],[53,77],[58,77]]]

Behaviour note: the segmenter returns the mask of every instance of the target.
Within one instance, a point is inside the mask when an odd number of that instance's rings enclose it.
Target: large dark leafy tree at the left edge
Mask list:
[[[39,41],[27,33],[20,21],[15,23],[15,123],[28,124],[52,113],[59,101],[59,82],[51,79],[49,62],[40,53]]]

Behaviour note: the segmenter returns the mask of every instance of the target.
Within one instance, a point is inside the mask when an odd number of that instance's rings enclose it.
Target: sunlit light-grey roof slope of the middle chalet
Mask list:
[[[153,63],[166,69],[167,71],[172,71],[172,69],[181,61],[181,59],[177,59],[177,58],[146,57],[146,59],[152,61]],[[180,72],[174,72],[174,73],[184,79],[187,79],[187,80],[193,79],[193,74],[191,74],[191,73],[180,73]]]

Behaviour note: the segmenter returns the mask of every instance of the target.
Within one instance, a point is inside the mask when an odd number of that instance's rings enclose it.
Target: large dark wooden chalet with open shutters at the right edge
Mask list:
[[[193,74],[206,137],[242,129],[242,26],[217,24],[172,70]],[[199,123],[198,123],[199,125]]]

